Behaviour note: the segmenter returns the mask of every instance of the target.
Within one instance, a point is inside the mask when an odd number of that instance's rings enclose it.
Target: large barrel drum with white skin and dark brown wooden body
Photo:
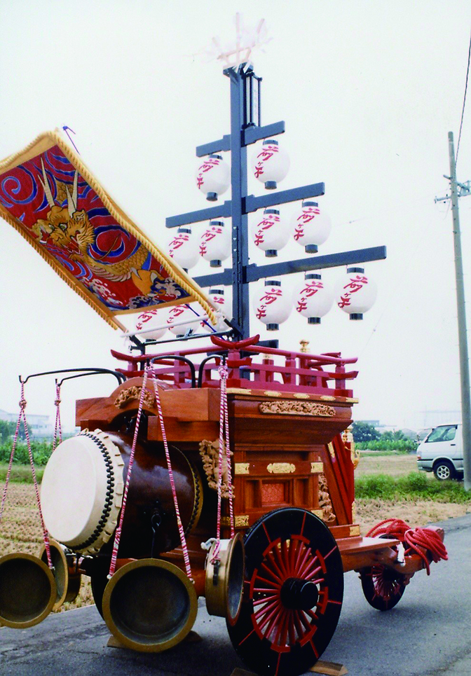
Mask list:
[[[83,434],[85,436],[76,437],[75,446],[73,439],[65,441],[66,446],[63,446],[63,449],[58,446],[55,451],[56,455],[51,456],[48,467],[46,467],[45,479],[47,476],[48,481],[41,488],[41,499],[46,499],[48,506],[46,513],[49,512],[52,515],[50,524],[46,520],[46,527],[53,537],[72,551],[111,556],[114,529],[120,518],[123,500],[123,482],[126,481],[130,464],[132,436],[123,432],[105,434],[98,429],[95,432],[84,431]],[[99,450],[103,439],[108,445],[108,451],[118,457],[118,463],[115,462],[112,472],[106,466],[109,454],[103,455]],[[189,532],[196,525],[201,511],[203,497],[201,480],[198,471],[193,468],[183,453],[175,446],[171,446],[169,451],[180,516],[184,529]],[[80,464],[81,453],[83,453],[85,464],[81,468],[82,471],[77,471],[76,481],[73,475],[71,478],[71,472],[67,466],[69,452],[76,464]],[[89,462],[90,454],[93,455],[93,463]],[[86,471],[83,471],[83,468],[88,468],[90,464],[96,467],[96,476],[88,475]],[[48,472],[47,475],[46,472]],[[85,484],[87,476],[90,476],[88,486]],[[104,488],[97,476],[107,477],[101,481],[107,481],[107,486],[104,486],[107,488],[106,496],[107,499],[113,500],[116,509],[116,517],[112,522],[111,530],[108,530],[109,534],[106,535],[105,542],[103,542],[103,528],[100,529],[98,520],[100,516],[96,515],[104,513],[107,505],[104,501]],[[67,490],[54,492],[54,486],[60,487],[61,478],[64,482],[62,485],[67,485]],[[82,505],[85,509],[71,511],[70,495],[74,495],[74,499],[80,501],[81,493],[86,496],[83,498],[86,502]],[[60,516],[56,518],[57,514]],[[69,523],[70,526],[68,526]],[[64,539],[57,537],[54,528],[51,527],[54,525],[58,531],[64,533]],[[81,537],[76,538],[75,542],[73,539],[67,540],[66,533],[74,534],[76,530],[80,530]],[[77,540],[84,542],[86,549]],[[155,557],[175,549],[179,544],[172,486],[163,444],[139,439],[135,446],[118,556],[120,558]]]

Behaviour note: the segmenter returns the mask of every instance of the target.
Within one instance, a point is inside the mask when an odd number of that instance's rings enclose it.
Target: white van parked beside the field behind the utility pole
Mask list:
[[[463,428],[439,425],[417,447],[418,469],[432,471],[439,481],[463,478]]]

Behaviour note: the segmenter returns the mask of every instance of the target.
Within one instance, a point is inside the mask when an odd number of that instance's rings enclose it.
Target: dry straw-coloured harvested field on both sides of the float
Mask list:
[[[415,455],[363,455],[355,470],[355,476],[367,474],[403,476],[416,469]],[[430,476],[430,481],[435,481],[432,474],[427,476]],[[0,490],[3,490],[3,486],[4,484],[0,483]],[[356,523],[360,524],[362,534],[366,534],[378,521],[385,518],[402,518],[412,527],[416,527],[454,516],[463,516],[471,511],[471,506],[430,500],[392,502],[357,499],[356,509]],[[37,556],[42,545],[43,536],[34,486],[11,483],[8,486],[4,515],[0,522],[0,556],[12,552],[25,552]],[[58,612],[92,603],[90,581],[88,577],[83,577],[76,600],[64,604]]]

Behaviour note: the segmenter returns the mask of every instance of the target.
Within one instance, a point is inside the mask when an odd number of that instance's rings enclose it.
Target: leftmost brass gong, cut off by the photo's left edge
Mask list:
[[[46,563],[31,554],[0,558],[0,624],[24,629],[39,624],[53,609],[57,590]]]

